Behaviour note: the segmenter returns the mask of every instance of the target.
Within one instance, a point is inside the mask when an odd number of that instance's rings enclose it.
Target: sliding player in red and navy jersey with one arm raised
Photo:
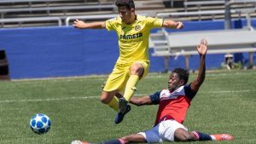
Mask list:
[[[159,109],[154,128],[137,134],[102,142],[104,144],[126,144],[134,142],[157,143],[163,141],[223,141],[233,140],[229,134],[207,135],[199,131],[189,132],[183,126],[190,102],[195,97],[206,75],[205,58],[207,55],[207,41],[201,40],[196,47],[200,55],[200,67],[197,78],[187,84],[189,72],[183,68],[175,68],[168,80],[168,89],[162,89],[153,95],[132,97],[131,103],[137,106],[158,104]],[[72,144],[87,144],[88,142],[73,141]]]

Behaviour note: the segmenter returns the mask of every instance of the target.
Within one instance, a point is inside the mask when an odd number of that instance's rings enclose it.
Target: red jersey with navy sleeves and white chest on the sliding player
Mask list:
[[[196,92],[192,92],[190,84],[186,84],[173,92],[170,92],[169,89],[162,89],[150,95],[151,101],[154,104],[159,104],[155,124],[159,124],[166,119],[174,119],[183,124],[190,101],[192,101],[195,94]]]

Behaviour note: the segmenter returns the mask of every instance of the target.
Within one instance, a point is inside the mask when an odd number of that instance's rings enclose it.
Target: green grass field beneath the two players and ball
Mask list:
[[[196,73],[190,74],[189,82],[195,77]],[[150,129],[157,106],[132,106],[121,124],[113,123],[116,112],[99,100],[106,78],[0,82],[0,144],[69,144],[77,139],[99,142]],[[168,74],[148,74],[137,85],[136,95],[166,88],[167,78]],[[30,118],[38,112],[52,121],[45,135],[30,130]],[[184,125],[189,130],[229,133],[236,138],[214,143],[255,144],[256,71],[207,72]]]

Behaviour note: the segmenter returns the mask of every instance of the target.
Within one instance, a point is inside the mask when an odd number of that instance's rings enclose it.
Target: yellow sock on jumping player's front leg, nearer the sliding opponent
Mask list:
[[[125,87],[125,94],[124,94],[126,101],[131,100],[131,96],[136,91],[136,84],[138,80],[139,80],[139,77],[137,75],[131,75],[130,78],[128,79]]]

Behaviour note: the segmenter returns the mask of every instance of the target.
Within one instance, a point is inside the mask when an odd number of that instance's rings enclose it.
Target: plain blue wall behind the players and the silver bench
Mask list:
[[[245,26],[246,21],[242,20],[241,24]],[[224,21],[187,21],[184,26],[183,32],[216,30],[224,29]],[[256,27],[256,20],[253,26]],[[108,74],[119,56],[115,32],[73,27],[1,29],[0,49],[7,53],[12,79]],[[150,49],[149,53],[152,52]],[[247,55],[243,58],[247,61]],[[164,70],[162,57],[150,57],[150,60],[150,72]],[[198,55],[191,56],[191,69],[197,69],[198,60]],[[208,55],[207,69],[218,68],[223,61],[224,55]],[[185,66],[183,56],[170,59],[170,69],[177,66]]]

